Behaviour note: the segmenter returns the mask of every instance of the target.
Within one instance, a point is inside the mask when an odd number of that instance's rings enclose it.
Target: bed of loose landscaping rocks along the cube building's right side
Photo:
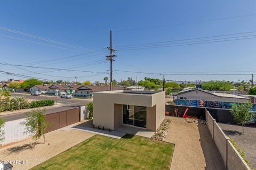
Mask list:
[[[172,120],[165,118],[165,120],[161,123],[156,133],[151,137],[152,139],[156,139],[159,141],[163,141],[166,138],[167,132],[170,129],[170,124]]]

